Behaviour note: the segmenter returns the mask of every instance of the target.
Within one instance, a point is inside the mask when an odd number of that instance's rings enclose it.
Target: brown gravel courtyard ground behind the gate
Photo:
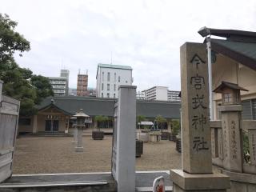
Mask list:
[[[83,153],[75,153],[71,137],[21,137],[14,152],[14,174],[50,174],[110,171],[112,137],[94,141],[83,137]],[[136,170],[181,168],[175,143],[144,142],[144,154],[136,158]]]

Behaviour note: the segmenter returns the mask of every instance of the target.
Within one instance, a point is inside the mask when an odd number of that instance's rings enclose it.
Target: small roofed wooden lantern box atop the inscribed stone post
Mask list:
[[[241,104],[240,90],[248,91],[238,84],[231,82],[222,82],[214,92],[222,94],[222,105],[238,105]]]

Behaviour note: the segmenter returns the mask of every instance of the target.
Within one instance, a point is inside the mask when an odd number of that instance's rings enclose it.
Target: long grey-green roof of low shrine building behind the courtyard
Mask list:
[[[90,97],[55,97],[46,98],[38,106],[38,110],[45,109],[54,99],[54,106],[66,111],[70,114],[75,114],[78,110],[83,109],[84,113],[95,115],[114,115],[114,98],[90,98]],[[157,115],[162,115],[164,118],[180,118],[180,102],[164,102],[164,101],[145,101],[137,100],[136,115],[144,115],[147,118],[155,118]]]

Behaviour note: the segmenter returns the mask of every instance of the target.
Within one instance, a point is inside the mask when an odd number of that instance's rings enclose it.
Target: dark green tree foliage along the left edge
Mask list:
[[[4,82],[3,94],[21,100],[20,115],[29,116],[37,112],[35,106],[42,98],[53,95],[53,90],[48,78],[34,75],[15,62],[15,51],[30,50],[30,42],[14,31],[15,26],[17,22],[0,14],[0,79]]]

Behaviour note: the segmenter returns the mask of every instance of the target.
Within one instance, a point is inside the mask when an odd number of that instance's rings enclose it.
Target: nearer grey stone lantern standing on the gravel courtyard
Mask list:
[[[75,146],[76,152],[82,152],[83,146],[82,146],[82,129],[84,129],[85,122],[89,122],[90,116],[85,114],[82,109],[78,111],[77,114],[73,116],[74,118],[77,118],[76,124],[74,125],[77,129],[77,146]]]

